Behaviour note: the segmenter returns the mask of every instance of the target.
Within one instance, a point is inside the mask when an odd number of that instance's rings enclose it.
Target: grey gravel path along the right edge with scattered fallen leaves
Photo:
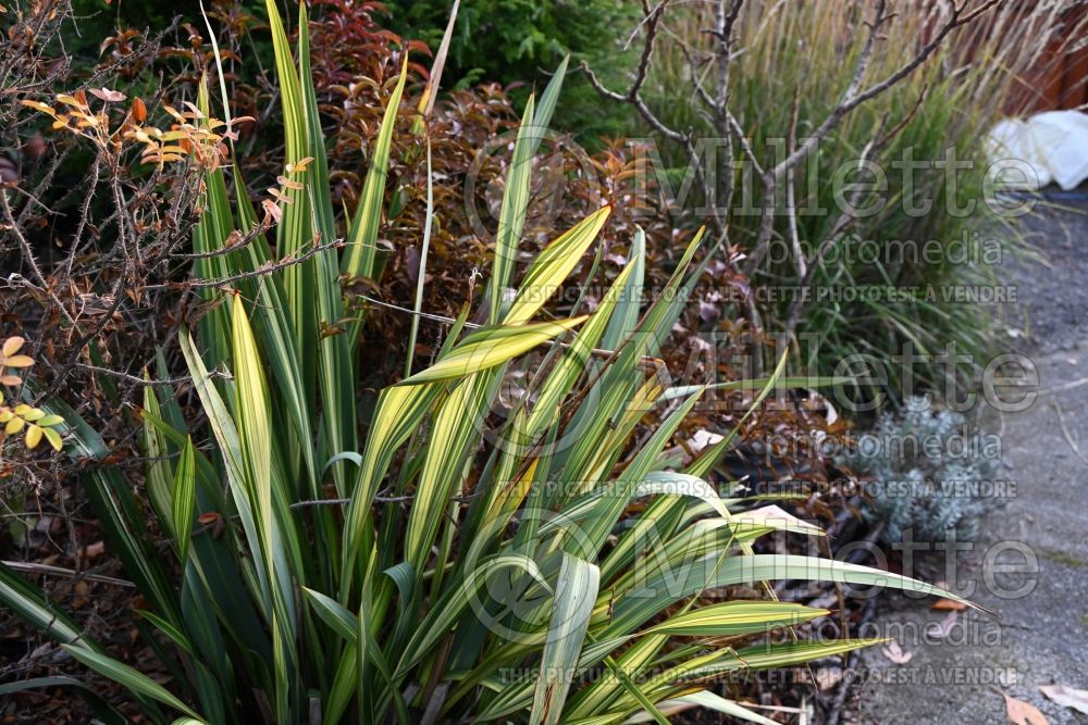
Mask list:
[[[1018,304],[1005,311],[1010,348],[1036,361],[1042,393],[1024,412],[987,416],[1007,461],[999,475],[1015,482],[1015,495],[988,516],[982,539],[960,555],[959,582],[949,582],[974,588],[972,599],[997,616],[966,612],[950,623],[932,599],[885,593],[875,634],[911,659],[866,650],[860,698],[843,722],[1007,723],[1007,692],[1050,723],[1088,723],[1039,691],[1088,690],[1088,192],[1049,201],[1065,209],[1040,209],[1028,223],[1046,263],[1012,265]],[[1023,551],[1037,561],[1034,575],[1000,571],[1024,562]],[[1021,585],[1024,593],[1009,596]]]

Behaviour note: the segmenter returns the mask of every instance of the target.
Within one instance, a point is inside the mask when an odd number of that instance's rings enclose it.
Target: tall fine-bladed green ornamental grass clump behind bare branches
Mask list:
[[[795,336],[820,374],[862,361],[901,401],[940,386],[950,345],[965,386],[996,351],[1031,203],[1000,197],[1023,168],[1002,173],[986,139],[1076,50],[1075,5],[666,0],[617,41],[638,67],[606,77],[609,47],[590,77],[635,105],[677,215],[728,229],[756,290],[732,311]]]

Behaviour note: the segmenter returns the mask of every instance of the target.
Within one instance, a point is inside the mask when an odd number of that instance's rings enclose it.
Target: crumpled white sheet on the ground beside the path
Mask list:
[[[991,161],[1012,161],[1025,172],[1003,175],[1006,187],[1034,191],[1054,183],[1068,191],[1088,179],[1088,114],[1079,111],[1006,118],[990,132],[988,145]]]

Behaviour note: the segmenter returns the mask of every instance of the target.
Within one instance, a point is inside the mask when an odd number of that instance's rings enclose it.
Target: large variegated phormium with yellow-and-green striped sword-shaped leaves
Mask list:
[[[663,389],[644,362],[704,271],[705,261],[693,263],[701,235],[641,316],[641,239],[592,314],[542,312],[593,246],[608,208],[556,238],[520,287],[504,293],[516,276],[534,139],[555,108],[562,67],[540,102],[530,100],[518,136],[486,324],[468,325],[466,310],[434,364],[381,391],[360,437],[354,352],[363,328],[347,318],[341,278],[381,274],[376,234],[405,82],[341,241],[306,7],[297,65],[272,0],[268,12],[290,164],[268,211],[279,218],[276,257],[262,234],[228,241],[236,228],[258,228],[257,214],[240,179],[232,207],[224,168],[210,170],[196,276],[236,287],[206,288],[221,304],[196,335],[182,335],[181,348],[214,446],[194,446],[196,424],[169,387],[149,386],[143,410],[148,499],[172,543],[165,555],[149,541],[119,472],[92,468],[86,482],[110,546],[146,601],[139,625],[172,683],[110,658],[3,566],[0,601],[122,683],[154,722],[604,725],[638,713],[667,722],[664,712],[684,704],[768,723],[705,683],[871,643],[722,647],[724,638],[828,612],[774,599],[705,604],[700,595],[708,589],[784,577],[953,597],[842,562],[755,554],[751,545],[765,534],[820,532],[775,510],[745,510],[705,482],[732,435],[685,471],[663,470],[663,450],[705,388]],[[208,114],[207,93],[201,105]],[[494,423],[489,413],[504,376],[537,348],[546,349],[545,364],[505,422]],[[753,407],[782,367],[754,386]],[[630,451],[635,427],[666,402],[657,429]],[[48,408],[67,421],[72,455],[104,455],[74,411]],[[648,504],[633,509],[640,498]],[[123,722],[87,697],[104,722]]]

